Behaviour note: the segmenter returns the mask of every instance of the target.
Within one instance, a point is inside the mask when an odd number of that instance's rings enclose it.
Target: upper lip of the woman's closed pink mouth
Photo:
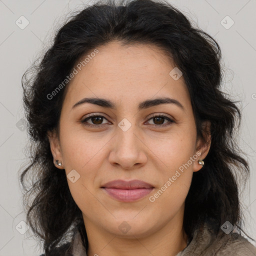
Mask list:
[[[107,188],[111,187],[111,188],[119,188],[119,189],[153,188],[151,184],[146,183],[139,179],[133,179],[129,181],[116,179],[116,180],[112,180],[105,183],[101,187],[107,187]]]

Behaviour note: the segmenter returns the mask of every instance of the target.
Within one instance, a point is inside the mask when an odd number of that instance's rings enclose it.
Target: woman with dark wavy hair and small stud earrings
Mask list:
[[[22,79],[43,255],[256,255],[220,57],[167,2],[97,2],[59,29]]]

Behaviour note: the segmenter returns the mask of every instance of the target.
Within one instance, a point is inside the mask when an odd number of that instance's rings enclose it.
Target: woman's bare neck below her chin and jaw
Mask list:
[[[175,256],[187,245],[187,235],[183,231],[183,214],[177,213],[160,229],[150,234],[121,237],[96,226],[84,217],[88,237],[87,256],[130,256],[158,255]]]

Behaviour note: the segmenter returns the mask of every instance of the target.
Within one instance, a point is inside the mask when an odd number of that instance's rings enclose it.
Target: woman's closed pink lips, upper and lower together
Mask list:
[[[131,202],[145,197],[154,187],[138,179],[130,181],[117,179],[105,183],[101,188],[118,201]]]

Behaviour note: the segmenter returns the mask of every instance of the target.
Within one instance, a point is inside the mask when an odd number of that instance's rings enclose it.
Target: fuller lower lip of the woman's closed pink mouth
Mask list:
[[[113,198],[124,202],[138,200],[153,190],[153,188],[119,189],[110,187],[103,187],[103,189]]]

